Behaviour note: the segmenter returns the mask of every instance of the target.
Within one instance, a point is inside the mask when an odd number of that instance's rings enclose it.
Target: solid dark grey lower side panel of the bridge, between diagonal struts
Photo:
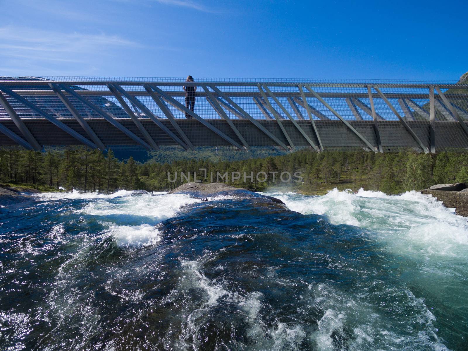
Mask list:
[[[59,119],[66,126],[72,128],[77,133],[89,140],[88,135],[80,127],[78,121],[74,119]],[[125,135],[116,127],[112,126],[105,119],[90,118],[86,119],[89,127],[91,127],[98,138],[104,143],[106,147],[115,145],[121,146],[139,146],[137,142]],[[143,135],[132,122],[131,119],[117,119],[124,127],[128,128],[134,134],[143,138]],[[147,118],[139,119],[142,126],[147,130],[148,134],[157,141],[158,145],[178,145],[168,134],[160,127],[154,124],[153,121]],[[171,125],[168,120],[161,121],[168,129],[177,134],[176,129]],[[239,138],[233,132],[232,128],[225,120],[212,119],[208,120],[212,126],[216,127],[223,133],[227,134],[230,138],[240,143]],[[271,147],[275,146],[281,148],[271,140],[266,134],[259,129],[252,127],[251,122],[245,119],[237,119],[232,121],[238,131],[244,136],[245,141],[250,146],[256,147]],[[219,137],[216,133],[200,126],[195,119],[181,119],[177,121],[183,133],[190,139],[195,147],[198,146],[232,146],[229,142]],[[259,123],[277,137],[281,142],[287,145],[288,141],[282,133],[276,120],[260,120]],[[298,120],[297,123],[304,130],[307,136],[318,145],[318,140],[314,134],[311,123],[308,120]],[[374,149],[369,149],[364,142],[362,142],[356,134],[354,134],[348,127],[346,127],[339,120],[317,120],[315,126],[318,134],[322,140],[322,145],[325,150],[349,150],[362,148],[367,151],[375,151],[377,148],[376,134],[374,132],[374,125],[372,120],[349,121],[350,125],[355,128],[358,133],[363,135],[371,144],[375,145]],[[408,121],[409,127],[417,134],[418,138],[424,142],[425,146],[430,146],[430,123],[429,121]],[[31,131],[37,142],[43,146],[72,146],[84,145],[77,139],[73,138],[70,134],[64,132],[59,127],[53,125],[47,119],[35,118],[24,119],[24,124]],[[289,134],[293,144],[296,148],[310,147],[306,138],[298,131],[298,129],[289,120],[282,121],[282,124]],[[12,120],[0,119],[0,125],[7,127],[15,133],[20,133],[15,123]],[[398,151],[402,149],[412,149],[417,152],[424,151],[415,142],[412,136],[408,133],[405,127],[399,121],[378,121],[380,131],[380,140],[384,152]],[[460,150],[461,145],[468,145],[467,134],[457,121],[435,121],[437,133],[435,134],[435,144],[437,145],[438,152],[444,150]],[[9,138],[0,138],[0,146],[15,146],[19,145]]]

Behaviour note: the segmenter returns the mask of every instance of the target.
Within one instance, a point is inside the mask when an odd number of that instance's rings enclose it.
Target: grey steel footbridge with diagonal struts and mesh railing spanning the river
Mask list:
[[[197,87],[194,111],[183,86]],[[189,116],[189,118],[186,118]],[[468,149],[468,82],[0,77],[0,146]]]

